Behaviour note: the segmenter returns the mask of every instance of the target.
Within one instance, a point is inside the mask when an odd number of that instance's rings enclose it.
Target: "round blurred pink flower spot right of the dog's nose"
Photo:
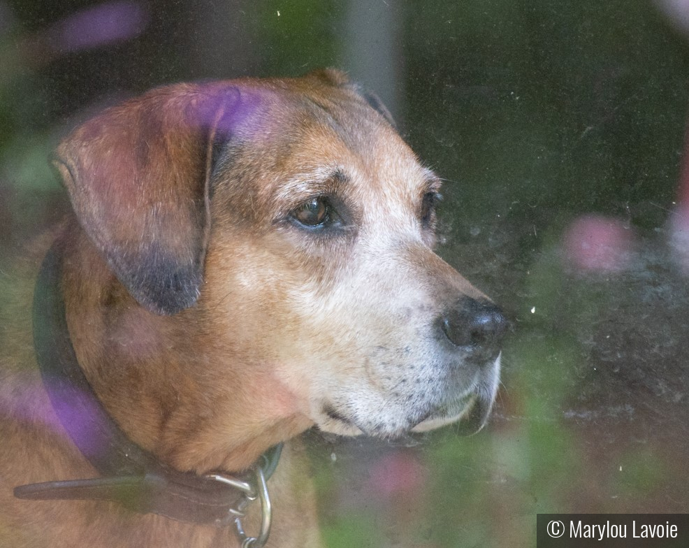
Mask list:
[[[634,233],[621,220],[584,215],[565,230],[567,262],[581,271],[620,272],[634,251]]]

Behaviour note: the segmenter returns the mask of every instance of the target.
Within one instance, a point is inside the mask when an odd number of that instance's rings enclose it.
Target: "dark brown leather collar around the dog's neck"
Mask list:
[[[129,440],[89,385],[69,337],[60,290],[61,254],[55,243],[41,266],[33,306],[34,347],[52,408],[76,447],[101,477],[18,486],[17,498],[110,500],[133,510],[179,521],[226,526],[256,498],[254,470],[275,471],[282,444],[253,470],[232,478],[182,473]],[[218,479],[220,478],[220,479]],[[253,493],[251,491],[254,491]]]

